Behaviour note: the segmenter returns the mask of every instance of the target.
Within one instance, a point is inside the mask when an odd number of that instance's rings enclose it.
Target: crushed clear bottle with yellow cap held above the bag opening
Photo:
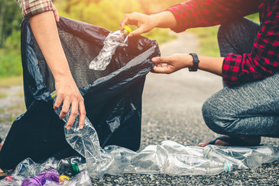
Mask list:
[[[109,33],[107,38],[105,38],[103,49],[101,49],[98,56],[91,61],[89,69],[105,70],[107,65],[110,64],[116,48],[128,46],[128,35],[126,33],[130,33],[130,28],[128,26],[124,26],[124,31]]]

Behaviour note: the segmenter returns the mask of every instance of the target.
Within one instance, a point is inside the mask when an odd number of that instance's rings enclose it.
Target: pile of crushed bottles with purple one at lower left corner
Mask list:
[[[43,164],[38,164],[27,158],[17,165],[11,175],[0,180],[0,185],[91,185],[88,171],[73,169],[82,160],[81,157],[69,157],[60,161],[50,158]]]

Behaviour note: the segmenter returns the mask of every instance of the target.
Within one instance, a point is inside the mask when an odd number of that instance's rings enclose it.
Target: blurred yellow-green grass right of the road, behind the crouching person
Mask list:
[[[259,14],[255,13],[248,16],[248,19],[259,23]],[[219,26],[190,29],[199,38],[199,54],[202,56],[220,56],[217,32]]]

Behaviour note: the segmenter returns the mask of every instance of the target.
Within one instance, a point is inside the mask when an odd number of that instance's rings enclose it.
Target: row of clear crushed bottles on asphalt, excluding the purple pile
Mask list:
[[[60,114],[61,108],[56,110]],[[67,123],[68,112],[63,120]],[[183,146],[174,141],[146,146],[134,152],[121,146],[100,148],[98,135],[86,118],[80,130],[79,116],[67,130],[66,140],[86,159],[86,169],[91,178],[105,173],[167,173],[170,175],[215,175],[232,169],[250,169],[278,160],[279,151],[273,146],[222,147]]]

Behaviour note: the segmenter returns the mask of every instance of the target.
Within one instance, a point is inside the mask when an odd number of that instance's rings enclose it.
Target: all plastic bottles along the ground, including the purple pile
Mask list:
[[[61,109],[56,110],[59,114]],[[68,121],[70,111],[64,121]],[[279,151],[273,146],[223,147],[223,146],[183,146],[174,141],[163,141],[160,145],[146,146],[137,152],[120,146],[100,148],[98,135],[86,118],[84,128],[78,127],[77,116],[73,127],[66,130],[66,139],[70,146],[85,157],[69,157],[63,160],[48,159],[43,164],[30,158],[17,165],[10,177],[0,180],[0,185],[91,185],[91,178],[105,173],[118,175],[123,173],[169,175],[215,175],[232,169],[257,168],[264,163],[278,160]],[[81,172],[73,178],[63,179],[58,171],[69,171],[72,165],[81,167]],[[79,167],[80,168],[80,167]],[[56,169],[56,170],[55,170]],[[83,170],[82,170],[83,169]],[[48,173],[48,174],[47,174]],[[48,175],[48,176],[47,176]],[[34,178],[37,178],[34,180]],[[44,180],[45,179],[45,180]],[[42,181],[43,180],[43,181]],[[60,181],[57,181],[60,180]],[[44,184],[42,184],[44,183]]]

